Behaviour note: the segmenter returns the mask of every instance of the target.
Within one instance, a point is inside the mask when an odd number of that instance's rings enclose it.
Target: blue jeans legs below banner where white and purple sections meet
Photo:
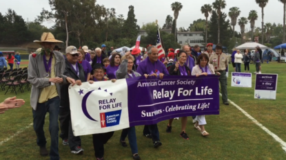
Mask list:
[[[127,137],[127,135],[128,135],[128,140],[129,140],[132,155],[134,155],[135,153],[138,153],[135,126],[123,129],[120,140],[125,141],[125,138]]]

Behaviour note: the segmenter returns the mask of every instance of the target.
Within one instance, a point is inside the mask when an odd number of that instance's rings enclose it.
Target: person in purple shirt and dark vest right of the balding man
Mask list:
[[[187,53],[181,50],[178,53],[177,57],[178,57],[178,62],[176,62],[176,64],[172,65],[172,67],[170,68],[169,70],[170,75],[190,76],[191,70],[189,67],[187,67],[187,65],[185,65],[185,62],[187,61]],[[167,129],[166,129],[167,133],[172,132],[173,120],[174,120],[173,118],[169,119],[169,123],[167,124]],[[181,126],[182,126],[182,132],[180,136],[183,137],[183,139],[189,139],[189,137],[187,137],[187,133],[185,133],[185,128],[187,126],[187,117],[181,117]]]

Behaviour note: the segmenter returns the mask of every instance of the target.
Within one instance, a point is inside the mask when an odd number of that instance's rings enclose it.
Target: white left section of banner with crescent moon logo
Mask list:
[[[74,136],[129,128],[125,79],[115,83],[84,82],[81,86],[70,86],[69,95]]]

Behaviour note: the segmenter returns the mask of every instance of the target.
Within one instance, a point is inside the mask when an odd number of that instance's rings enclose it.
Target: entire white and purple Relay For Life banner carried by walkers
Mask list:
[[[75,136],[156,124],[174,117],[219,114],[218,76],[127,78],[70,86]]]

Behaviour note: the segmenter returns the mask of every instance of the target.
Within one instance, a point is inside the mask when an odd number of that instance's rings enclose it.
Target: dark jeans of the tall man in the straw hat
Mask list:
[[[43,131],[43,124],[45,124],[45,114],[49,112],[50,115],[50,159],[59,159],[59,96],[52,98],[44,103],[37,104],[37,110],[33,112],[34,131],[37,135],[37,144],[40,147],[45,146],[45,133]]]

